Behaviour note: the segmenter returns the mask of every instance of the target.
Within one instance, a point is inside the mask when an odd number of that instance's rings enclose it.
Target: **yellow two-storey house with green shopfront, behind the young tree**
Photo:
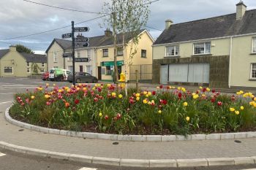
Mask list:
[[[132,43],[132,37],[129,34],[126,35],[127,40],[124,42],[124,49],[122,47],[122,35],[117,35],[118,47],[117,47],[117,66],[118,74],[124,73],[127,81],[135,81],[135,70],[138,69],[140,75],[139,80],[150,80],[152,79],[152,45],[154,39],[148,33],[147,30],[142,30],[138,33],[139,41],[136,47]],[[105,31],[105,36],[102,38],[101,45],[95,48],[96,53],[96,66],[97,66],[97,77],[99,80],[113,81],[113,69],[114,69],[114,47],[113,47],[113,36],[111,31]],[[130,53],[134,53],[134,49],[137,50],[132,58]],[[141,67],[147,67],[148,75],[140,72]],[[144,71],[145,72],[145,71]]]

